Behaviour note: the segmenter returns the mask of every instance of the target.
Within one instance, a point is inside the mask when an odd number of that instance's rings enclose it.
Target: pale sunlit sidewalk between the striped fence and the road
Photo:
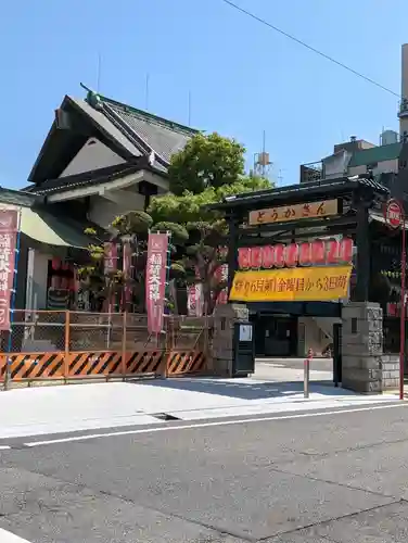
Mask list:
[[[240,379],[180,378],[16,389],[0,393],[0,439],[181,420],[264,415],[391,402],[336,389],[331,372],[310,371],[303,396],[301,369],[257,364]]]

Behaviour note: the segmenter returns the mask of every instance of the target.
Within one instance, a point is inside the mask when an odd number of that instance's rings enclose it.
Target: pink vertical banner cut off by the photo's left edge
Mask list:
[[[18,211],[0,210],[0,330],[10,330]]]

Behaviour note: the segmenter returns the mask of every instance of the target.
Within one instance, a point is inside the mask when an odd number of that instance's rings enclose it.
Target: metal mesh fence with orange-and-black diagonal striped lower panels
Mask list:
[[[211,326],[208,317],[166,316],[151,334],[145,315],[15,311],[0,336],[0,381],[203,372]]]

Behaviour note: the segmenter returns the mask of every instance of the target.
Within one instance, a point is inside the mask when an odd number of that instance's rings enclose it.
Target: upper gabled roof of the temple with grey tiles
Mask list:
[[[197,132],[89,89],[85,100],[65,96],[28,181],[39,186],[59,179],[89,138],[97,138],[125,163],[149,157],[155,173],[165,175],[171,154]]]

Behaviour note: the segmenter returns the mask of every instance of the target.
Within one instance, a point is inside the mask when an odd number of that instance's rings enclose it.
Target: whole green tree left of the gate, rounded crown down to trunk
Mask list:
[[[244,153],[239,142],[216,132],[194,136],[171,157],[170,192],[152,199],[149,209],[157,229],[166,225],[175,232],[182,227],[183,236],[174,237],[170,274],[179,286],[202,283],[207,314],[226,287],[217,279],[217,269],[226,262],[220,248],[228,236],[222,214],[208,205],[228,195],[271,188],[267,179],[244,175]]]

